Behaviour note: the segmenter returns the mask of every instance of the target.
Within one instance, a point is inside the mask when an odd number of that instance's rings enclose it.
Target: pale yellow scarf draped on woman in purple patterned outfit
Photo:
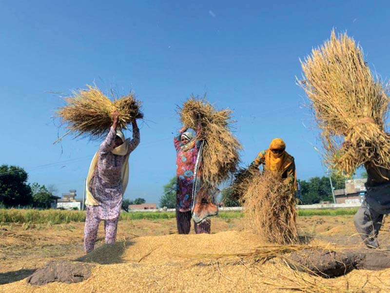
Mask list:
[[[122,131],[117,130],[117,136],[119,136],[122,139],[123,144],[120,146],[117,146],[114,148],[111,152],[115,155],[124,156],[127,154],[127,151],[129,149],[129,140],[125,139],[124,134]],[[88,176],[87,176],[87,182],[86,182],[86,193],[87,198],[85,200],[85,204],[89,206],[99,206],[100,203],[94,198],[91,191],[89,190],[89,183],[92,180],[92,177],[94,176],[96,166],[98,165],[98,159],[99,159],[99,152],[95,154],[95,156],[92,159],[91,165],[89,167]],[[127,158],[128,159],[128,158]],[[122,179],[122,194],[125,193],[125,190],[127,188],[127,184],[129,182],[129,160],[125,160],[122,166],[121,171],[121,179]]]

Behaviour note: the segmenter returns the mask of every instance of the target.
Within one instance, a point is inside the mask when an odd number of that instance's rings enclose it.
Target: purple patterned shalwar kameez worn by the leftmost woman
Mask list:
[[[127,154],[119,156],[111,151],[115,146],[116,130],[111,127],[104,142],[99,148],[98,164],[89,190],[100,203],[98,206],[86,207],[84,227],[84,251],[94,250],[100,220],[104,220],[106,243],[114,243],[117,236],[117,224],[122,206],[122,166],[128,160],[130,153],[139,144],[139,129],[133,129],[133,139],[129,143]]]

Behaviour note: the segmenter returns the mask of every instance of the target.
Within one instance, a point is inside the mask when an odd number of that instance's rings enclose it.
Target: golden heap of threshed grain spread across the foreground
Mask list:
[[[390,270],[377,272],[355,270],[346,276],[333,279],[323,279],[305,272],[292,271],[278,258],[285,255],[283,253],[290,246],[270,248],[270,245],[267,247],[266,243],[256,240],[254,235],[245,232],[139,237],[126,244],[124,249],[119,248],[124,245],[123,242],[115,245],[118,246],[115,251],[122,254],[116,255],[111,264],[96,264],[91,277],[83,282],[32,286],[25,280],[21,280],[1,285],[0,292],[267,291],[271,293],[283,290],[283,292],[331,293],[388,292],[390,288]],[[269,251],[268,255],[273,255],[273,258],[262,263],[256,261],[255,253],[252,259],[237,256],[240,251],[250,251],[251,248],[257,248],[262,252]],[[213,251],[220,255],[205,256]],[[107,251],[104,251],[103,247],[100,252],[104,255]],[[226,258],[224,255],[230,256]],[[171,259],[172,257],[174,258]],[[381,282],[378,282],[378,279]]]

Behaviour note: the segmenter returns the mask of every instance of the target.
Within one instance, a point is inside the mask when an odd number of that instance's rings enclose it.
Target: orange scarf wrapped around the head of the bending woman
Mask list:
[[[283,152],[279,154],[273,153],[273,149],[282,149]],[[275,138],[270,144],[265,154],[265,167],[271,171],[283,172],[290,166],[291,162],[288,160],[289,154],[286,152],[286,144],[280,138]]]

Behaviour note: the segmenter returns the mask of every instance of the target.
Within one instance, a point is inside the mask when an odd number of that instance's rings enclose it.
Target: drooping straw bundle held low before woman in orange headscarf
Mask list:
[[[294,187],[279,173],[264,171],[254,176],[243,202],[250,227],[265,240],[281,244],[297,240]]]

